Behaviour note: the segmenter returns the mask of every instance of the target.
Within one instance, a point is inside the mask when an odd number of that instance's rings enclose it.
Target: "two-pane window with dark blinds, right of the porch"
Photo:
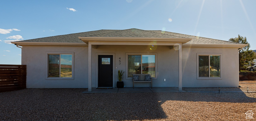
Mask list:
[[[198,79],[205,78],[220,78],[221,77],[221,55],[217,53],[212,55],[204,55],[203,53],[197,54],[197,72]]]

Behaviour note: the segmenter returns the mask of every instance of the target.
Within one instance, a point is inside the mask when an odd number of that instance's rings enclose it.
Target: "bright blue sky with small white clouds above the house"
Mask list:
[[[240,34],[256,50],[255,0],[1,1],[0,64],[21,64],[9,41],[101,29],[164,30],[228,41]]]

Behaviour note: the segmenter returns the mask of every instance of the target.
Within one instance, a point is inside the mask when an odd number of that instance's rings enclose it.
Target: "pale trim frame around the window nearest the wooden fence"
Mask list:
[[[48,77],[48,55],[72,54],[72,77]],[[45,54],[45,79],[46,80],[73,80],[74,79],[74,52],[46,52]]]

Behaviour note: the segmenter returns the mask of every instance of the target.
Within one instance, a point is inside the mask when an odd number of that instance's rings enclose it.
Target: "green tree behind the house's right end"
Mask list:
[[[253,59],[256,58],[255,52],[252,50],[249,50],[250,44],[247,42],[246,37],[242,37],[238,35],[238,38],[230,38],[229,41],[241,43],[241,44],[248,44],[248,46],[245,46],[243,48],[238,48],[239,50],[239,70],[241,67],[244,67],[244,65],[249,64],[249,61],[253,61]]]

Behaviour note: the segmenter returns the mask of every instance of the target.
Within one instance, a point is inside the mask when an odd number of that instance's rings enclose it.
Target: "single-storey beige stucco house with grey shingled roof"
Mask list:
[[[153,87],[238,87],[247,44],[158,30],[97,30],[12,42],[22,46],[27,88],[116,87],[118,70],[151,74]],[[148,87],[137,83],[135,87]]]

